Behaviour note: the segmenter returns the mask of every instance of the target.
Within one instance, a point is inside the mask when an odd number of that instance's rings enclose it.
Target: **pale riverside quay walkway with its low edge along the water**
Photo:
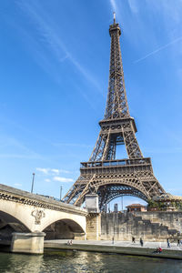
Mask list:
[[[167,248],[167,242],[145,242],[141,247],[139,242],[132,243],[129,241],[112,241],[108,240],[72,240],[71,246],[67,245],[67,239],[45,240],[46,248],[80,250],[92,252],[117,253],[123,255],[145,256],[151,258],[175,258],[182,259],[182,245],[177,247],[177,243],[171,243]],[[163,249],[162,253],[155,253],[156,249]]]

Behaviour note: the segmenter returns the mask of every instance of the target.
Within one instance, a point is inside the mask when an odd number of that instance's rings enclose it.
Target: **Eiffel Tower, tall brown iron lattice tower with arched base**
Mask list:
[[[81,162],[80,177],[63,200],[81,206],[87,194],[97,194],[99,207],[116,197],[134,196],[148,200],[165,193],[154,176],[150,157],[143,157],[136,140],[136,123],[129,114],[126,99],[119,36],[121,29],[114,23],[111,36],[109,84],[106,112],[96,146],[88,162]],[[128,158],[116,159],[116,147],[125,145]]]

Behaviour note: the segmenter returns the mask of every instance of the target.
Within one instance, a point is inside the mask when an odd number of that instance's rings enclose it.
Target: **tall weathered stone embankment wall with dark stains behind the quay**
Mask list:
[[[173,223],[172,223],[173,221]],[[181,230],[182,213],[140,212],[102,213],[101,239],[131,240],[132,236],[148,241],[166,241],[177,238]]]

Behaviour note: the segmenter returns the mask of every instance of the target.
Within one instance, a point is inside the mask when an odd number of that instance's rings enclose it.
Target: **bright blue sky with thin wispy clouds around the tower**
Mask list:
[[[0,183],[29,191],[35,172],[35,193],[59,197],[76,181],[104,116],[113,11],[139,146],[182,195],[180,0],[0,1]]]

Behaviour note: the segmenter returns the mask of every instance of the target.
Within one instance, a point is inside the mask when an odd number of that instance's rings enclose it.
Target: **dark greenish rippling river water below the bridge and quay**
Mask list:
[[[0,272],[180,273],[182,261],[81,251],[49,250],[43,256],[0,253]]]

